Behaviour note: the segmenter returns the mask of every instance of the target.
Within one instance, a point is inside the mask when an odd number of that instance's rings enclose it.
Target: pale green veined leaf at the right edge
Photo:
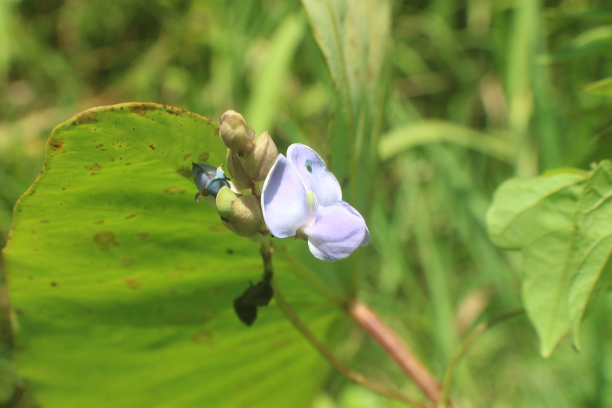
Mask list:
[[[493,242],[523,253],[523,303],[545,357],[570,327],[579,347],[584,309],[612,251],[611,174],[603,161],[591,172],[508,180],[487,214]]]

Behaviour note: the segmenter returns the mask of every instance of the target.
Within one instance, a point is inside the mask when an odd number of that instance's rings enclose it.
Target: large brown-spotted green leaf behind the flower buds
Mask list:
[[[259,247],[193,199],[192,161],[225,162],[216,132],[131,103],[51,134],[5,249],[15,358],[42,406],[310,406],[326,365],[274,303],[253,327],[237,319],[233,299],[263,272]],[[335,308],[288,264],[275,270],[323,335]]]

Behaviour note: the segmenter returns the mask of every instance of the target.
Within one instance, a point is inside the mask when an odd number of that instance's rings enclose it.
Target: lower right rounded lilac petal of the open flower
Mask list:
[[[364,218],[353,207],[336,202],[319,206],[315,224],[301,231],[308,236],[308,248],[315,258],[337,261],[349,256],[364,242],[367,227]]]

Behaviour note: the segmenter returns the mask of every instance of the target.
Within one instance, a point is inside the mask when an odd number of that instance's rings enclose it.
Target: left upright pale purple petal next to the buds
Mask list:
[[[293,237],[308,221],[306,189],[289,160],[278,155],[261,191],[267,228],[278,238]]]

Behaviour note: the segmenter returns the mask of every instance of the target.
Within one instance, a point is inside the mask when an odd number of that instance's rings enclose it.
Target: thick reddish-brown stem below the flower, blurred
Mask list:
[[[424,395],[431,402],[437,403],[441,395],[438,380],[425,368],[425,365],[401,341],[397,334],[384,324],[373,310],[359,300],[354,300],[349,305],[348,312],[357,323],[383,346],[390,357],[408,374]]]

